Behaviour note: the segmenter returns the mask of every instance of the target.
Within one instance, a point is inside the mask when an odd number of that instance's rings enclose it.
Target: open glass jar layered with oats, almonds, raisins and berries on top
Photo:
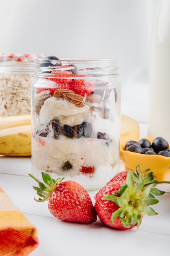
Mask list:
[[[31,83],[31,168],[93,190],[119,171],[117,60],[49,56]]]

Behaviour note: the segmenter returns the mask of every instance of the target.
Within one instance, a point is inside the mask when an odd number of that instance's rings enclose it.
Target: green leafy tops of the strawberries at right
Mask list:
[[[148,171],[150,168],[141,174],[138,165],[136,172],[128,171],[126,184],[122,184],[119,191],[103,197],[105,200],[115,202],[119,207],[111,215],[112,222],[119,218],[124,227],[130,228],[136,225],[139,228],[144,215],[157,215],[150,205],[157,204],[159,200],[155,196],[163,195],[165,192],[155,188],[160,182],[154,180],[153,172],[148,173]]]

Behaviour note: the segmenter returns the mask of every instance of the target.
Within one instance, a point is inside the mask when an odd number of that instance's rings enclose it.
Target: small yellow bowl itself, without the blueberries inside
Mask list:
[[[152,137],[146,137],[150,142],[154,140]],[[120,148],[120,159],[125,165],[125,170],[136,171],[136,166],[141,166],[141,173],[146,168],[150,168],[158,181],[165,181],[168,174],[170,174],[170,157],[162,155],[145,155],[125,151],[124,146]]]

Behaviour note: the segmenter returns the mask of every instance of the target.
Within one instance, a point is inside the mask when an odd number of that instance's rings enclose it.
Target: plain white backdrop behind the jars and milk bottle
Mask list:
[[[116,58],[121,113],[148,119],[158,0],[0,0],[0,52]]]

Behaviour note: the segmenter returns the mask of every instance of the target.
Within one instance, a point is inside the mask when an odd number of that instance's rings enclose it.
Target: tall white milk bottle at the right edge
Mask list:
[[[161,0],[152,30],[148,136],[170,143],[170,0]]]

